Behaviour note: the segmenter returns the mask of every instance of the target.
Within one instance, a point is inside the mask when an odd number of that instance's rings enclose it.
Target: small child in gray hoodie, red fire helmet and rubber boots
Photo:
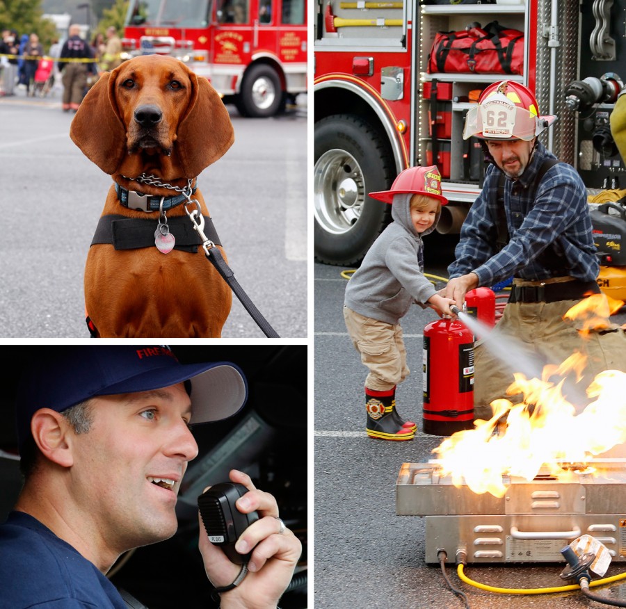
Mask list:
[[[454,300],[440,296],[424,277],[422,241],[435,229],[447,199],[441,195],[441,175],[435,165],[406,169],[391,190],[369,196],[391,203],[394,221],[374,241],[348,282],[344,319],[362,363],[369,368],[367,435],[410,440],[417,425],[401,419],[395,409],[396,385],[409,374],[400,318],[413,302],[452,315]]]

